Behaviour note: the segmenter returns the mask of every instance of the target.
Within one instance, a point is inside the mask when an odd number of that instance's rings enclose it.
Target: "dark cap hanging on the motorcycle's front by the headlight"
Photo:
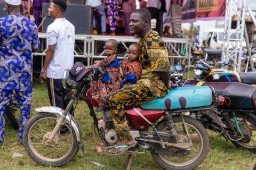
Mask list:
[[[71,74],[74,76],[75,81],[79,81],[89,71],[85,70],[85,65],[81,62],[76,62],[70,69]]]

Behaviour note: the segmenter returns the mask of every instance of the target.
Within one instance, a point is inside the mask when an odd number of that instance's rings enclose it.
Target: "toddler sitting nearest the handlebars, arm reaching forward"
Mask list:
[[[119,64],[118,59],[115,55],[117,52],[117,45],[118,43],[115,39],[107,40],[104,49],[107,57],[101,61],[95,61],[94,64],[91,66],[85,67],[85,70],[87,70],[93,66],[98,66],[102,67],[103,70],[106,72],[106,75],[104,77],[100,78],[98,81],[93,81],[90,87],[91,97],[95,101],[97,101],[99,106],[96,109],[97,112],[101,112],[104,110],[104,107],[108,107],[108,105],[103,103],[101,98],[121,88],[118,79]]]

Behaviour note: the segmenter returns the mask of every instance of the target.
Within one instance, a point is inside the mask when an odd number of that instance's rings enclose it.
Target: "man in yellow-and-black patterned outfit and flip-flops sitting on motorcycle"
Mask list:
[[[124,107],[133,107],[156,97],[164,97],[171,89],[170,62],[167,48],[161,37],[150,26],[151,15],[145,8],[133,11],[130,17],[130,30],[139,35],[141,46],[139,61],[142,72],[139,80],[109,96],[109,106],[118,138],[117,144],[108,152],[109,155],[122,154],[134,147]]]

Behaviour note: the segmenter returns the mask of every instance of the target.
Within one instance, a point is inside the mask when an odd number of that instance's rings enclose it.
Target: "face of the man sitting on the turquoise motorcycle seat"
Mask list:
[[[145,21],[142,20],[142,17],[139,13],[132,13],[130,16],[129,26],[132,35],[139,35],[145,29]]]

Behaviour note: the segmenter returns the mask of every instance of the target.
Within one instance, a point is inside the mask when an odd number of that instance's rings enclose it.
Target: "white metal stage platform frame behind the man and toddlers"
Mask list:
[[[34,53],[34,56],[41,56],[41,64],[43,66],[43,56],[46,52],[46,33],[39,32],[38,36],[41,40],[41,52]],[[87,65],[92,65],[94,60],[101,60],[106,56],[103,56],[103,46],[105,42],[110,39],[116,39],[118,41],[117,56],[119,59],[123,58],[125,51],[128,49],[131,43],[137,43],[139,38],[132,36],[101,36],[101,35],[75,35],[76,47],[74,50],[75,57],[84,58]],[[168,49],[170,62],[174,64],[181,64],[181,61],[185,58],[189,63],[189,56],[191,52],[189,39],[182,38],[163,38],[163,41]],[[175,59],[176,58],[176,59]]]

